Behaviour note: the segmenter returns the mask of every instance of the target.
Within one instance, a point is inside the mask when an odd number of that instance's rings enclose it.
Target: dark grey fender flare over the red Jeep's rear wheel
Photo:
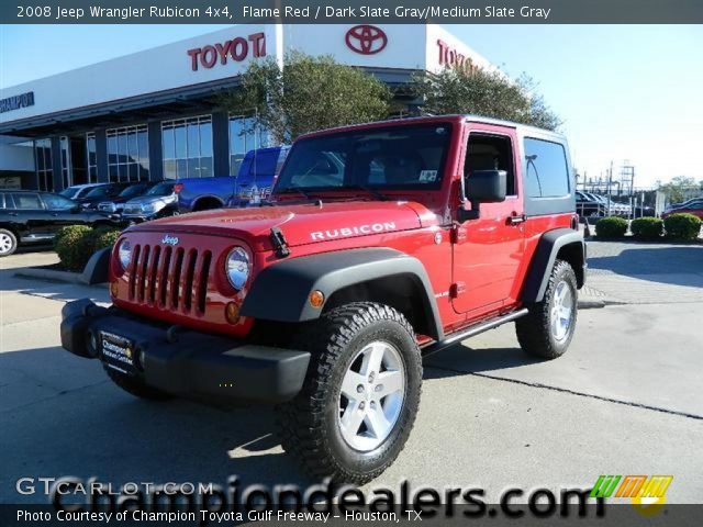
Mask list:
[[[579,288],[585,283],[585,242],[578,231],[572,228],[555,228],[546,232],[537,244],[532,257],[521,300],[526,303],[540,302],[545,296],[549,274],[554,268],[559,250],[573,246],[576,257],[570,264],[574,267]]]

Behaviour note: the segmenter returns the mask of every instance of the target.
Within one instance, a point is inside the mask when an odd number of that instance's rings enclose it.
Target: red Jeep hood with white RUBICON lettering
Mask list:
[[[254,250],[270,250],[271,228],[278,227],[290,247],[408,231],[438,224],[422,204],[406,201],[345,201],[219,209],[165,217],[131,227],[130,231],[193,233],[236,237]]]

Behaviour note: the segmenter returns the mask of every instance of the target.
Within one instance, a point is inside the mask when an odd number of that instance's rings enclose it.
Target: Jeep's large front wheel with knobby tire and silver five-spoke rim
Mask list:
[[[389,306],[353,303],[312,323],[298,347],[312,357],[300,394],[277,408],[283,449],[314,478],[377,478],[405,446],[420,405],[412,326]]]

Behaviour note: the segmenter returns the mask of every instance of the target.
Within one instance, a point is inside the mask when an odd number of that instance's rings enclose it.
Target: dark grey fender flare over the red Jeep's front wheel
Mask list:
[[[389,248],[361,248],[323,253],[280,260],[256,276],[244,298],[241,314],[277,322],[319,318],[320,309],[310,302],[312,291],[322,291],[325,302],[349,285],[386,277],[410,277],[422,292],[427,327],[434,339],[444,338],[442,318],[424,266],[417,258]]]

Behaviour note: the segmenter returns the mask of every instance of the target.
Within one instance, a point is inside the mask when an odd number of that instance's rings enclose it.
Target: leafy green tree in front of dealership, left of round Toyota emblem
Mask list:
[[[291,53],[282,68],[274,58],[252,63],[221,104],[253,114],[254,126],[283,144],[306,132],[386,119],[390,101],[388,87],[359,69],[332,56]]]

